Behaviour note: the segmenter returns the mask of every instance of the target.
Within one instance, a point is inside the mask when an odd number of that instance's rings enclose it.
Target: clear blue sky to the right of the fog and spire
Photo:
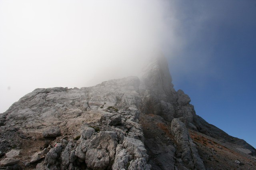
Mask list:
[[[188,43],[169,61],[174,88],[190,96],[197,115],[256,148],[256,1],[180,6]]]

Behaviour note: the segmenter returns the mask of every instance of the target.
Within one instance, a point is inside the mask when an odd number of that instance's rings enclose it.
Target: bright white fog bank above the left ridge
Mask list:
[[[179,45],[171,8],[156,0],[0,1],[0,113],[36,88],[136,75],[163,44]]]

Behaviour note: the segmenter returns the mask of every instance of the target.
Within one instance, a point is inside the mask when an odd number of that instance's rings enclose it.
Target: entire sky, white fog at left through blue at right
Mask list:
[[[197,115],[256,148],[255,0],[0,0],[0,113],[136,75],[162,51]]]

